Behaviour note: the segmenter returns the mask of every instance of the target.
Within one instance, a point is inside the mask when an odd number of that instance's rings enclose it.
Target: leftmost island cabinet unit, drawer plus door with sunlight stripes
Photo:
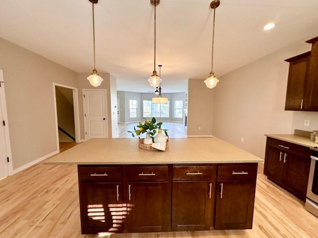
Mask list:
[[[78,172],[81,233],[122,232],[121,168],[89,167]]]

